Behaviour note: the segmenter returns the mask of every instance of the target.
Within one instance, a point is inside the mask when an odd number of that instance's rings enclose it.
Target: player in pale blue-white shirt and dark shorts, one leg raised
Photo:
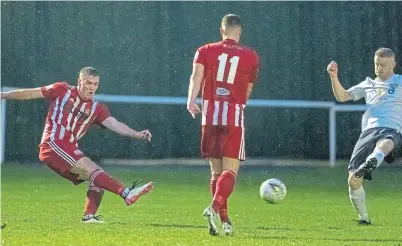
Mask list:
[[[345,90],[338,80],[338,65],[331,62],[327,71],[332,89],[339,102],[366,99],[368,109],[362,117],[362,133],[357,140],[349,162],[349,196],[359,214],[358,223],[369,225],[363,179],[371,180],[372,171],[385,160],[395,160],[394,151],[401,146],[402,76],[394,74],[394,52],[380,48],[375,52],[375,79],[366,78],[360,84]]]

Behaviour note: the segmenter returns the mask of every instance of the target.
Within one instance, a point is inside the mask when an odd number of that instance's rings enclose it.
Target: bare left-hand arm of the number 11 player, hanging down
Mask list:
[[[204,77],[204,65],[195,63],[193,65],[193,72],[190,77],[190,85],[188,87],[187,96],[187,110],[191,116],[195,118],[196,114],[201,113],[200,107],[195,103],[201,89],[201,81]]]

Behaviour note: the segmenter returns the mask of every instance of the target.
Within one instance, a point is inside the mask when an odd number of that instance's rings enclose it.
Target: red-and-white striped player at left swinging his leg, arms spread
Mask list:
[[[74,185],[89,181],[85,202],[84,223],[103,223],[96,212],[107,190],[121,196],[131,206],[148,193],[152,182],[143,186],[134,183],[128,188],[105,173],[102,168],[81,152],[78,140],[92,124],[106,127],[122,136],[151,141],[148,130],[137,132],[110,116],[102,103],[94,100],[99,86],[99,74],[92,67],[81,69],[78,86],[56,82],[49,86],[2,92],[1,99],[30,100],[46,98],[50,101],[45,129],[40,144],[39,159]]]

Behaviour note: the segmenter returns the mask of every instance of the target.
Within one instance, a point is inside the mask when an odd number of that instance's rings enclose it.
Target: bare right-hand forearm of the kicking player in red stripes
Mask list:
[[[131,129],[130,127],[128,127],[126,124],[116,120],[114,117],[110,116],[110,117],[106,118],[102,122],[102,125],[121,136],[127,136],[127,137],[132,137],[135,139],[147,140],[147,141],[151,142],[152,134],[149,130],[143,130],[143,131],[137,132],[137,131]]]

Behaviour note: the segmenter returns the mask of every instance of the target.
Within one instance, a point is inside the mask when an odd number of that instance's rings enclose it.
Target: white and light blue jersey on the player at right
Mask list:
[[[386,81],[366,78],[348,90],[353,100],[365,98],[368,106],[362,117],[362,131],[389,127],[402,131],[402,76],[393,74]]]

